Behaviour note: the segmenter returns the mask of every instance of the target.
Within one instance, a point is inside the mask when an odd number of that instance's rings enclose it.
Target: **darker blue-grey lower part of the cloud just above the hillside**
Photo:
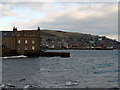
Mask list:
[[[117,12],[103,13],[104,15],[102,17],[93,15],[80,20],[71,18],[68,14],[63,14],[62,16],[55,17],[54,22],[40,21],[36,24],[36,26],[40,25],[44,28],[48,27],[51,29],[63,29],[101,35],[117,34]]]

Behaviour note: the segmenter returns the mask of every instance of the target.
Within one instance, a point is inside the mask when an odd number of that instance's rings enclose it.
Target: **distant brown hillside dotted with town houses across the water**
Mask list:
[[[57,30],[41,30],[42,44],[60,45],[68,44],[79,45],[79,47],[114,47],[119,48],[120,43],[105,36],[64,32]]]

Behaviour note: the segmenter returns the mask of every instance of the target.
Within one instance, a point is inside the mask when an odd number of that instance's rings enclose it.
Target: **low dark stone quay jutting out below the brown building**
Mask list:
[[[2,49],[2,57],[6,56],[19,56],[24,55],[27,57],[70,57],[70,52],[26,52],[24,54],[19,54],[16,51],[9,49]]]

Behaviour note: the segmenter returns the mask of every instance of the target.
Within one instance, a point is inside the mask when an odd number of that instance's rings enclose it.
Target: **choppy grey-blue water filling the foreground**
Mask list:
[[[70,50],[70,58],[3,60],[3,83],[45,88],[118,87],[117,50]]]

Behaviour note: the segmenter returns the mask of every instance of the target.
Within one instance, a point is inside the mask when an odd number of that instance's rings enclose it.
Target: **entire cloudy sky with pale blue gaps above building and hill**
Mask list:
[[[41,29],[107,36],[118,40],[117,2],[2,2],[0,30]]]

